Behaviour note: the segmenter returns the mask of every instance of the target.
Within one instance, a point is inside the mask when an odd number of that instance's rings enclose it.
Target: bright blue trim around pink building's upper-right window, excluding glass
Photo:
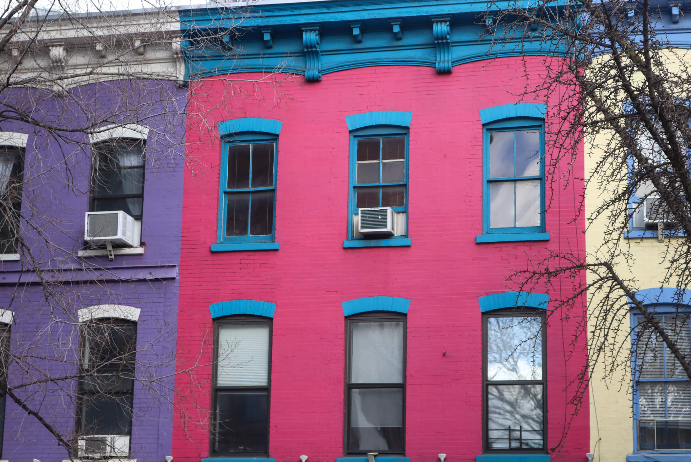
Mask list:
[[[515,241],[548,241],[549,233],[545,231],[545,104],[516,103],[480,109],[482,121],[482,234],[475,237],[476,243],[515,242]],[[493,131],[521,129],[540,130],[540,174],[525,177],[540,180],[540,226],[515,228],[490,228],[491,203],[489,184],[496,178],[489,178],[489,135]],[[511,177],[514,178],[514,177]],[[519,177],[516,177],[519,178]],[[524,177],[520,177],[524,178]],[[507,181],[509,178],[507,178]],[[515,210],[514,210],[515,214]],[[532,235],[532,239],[531,239]]]

